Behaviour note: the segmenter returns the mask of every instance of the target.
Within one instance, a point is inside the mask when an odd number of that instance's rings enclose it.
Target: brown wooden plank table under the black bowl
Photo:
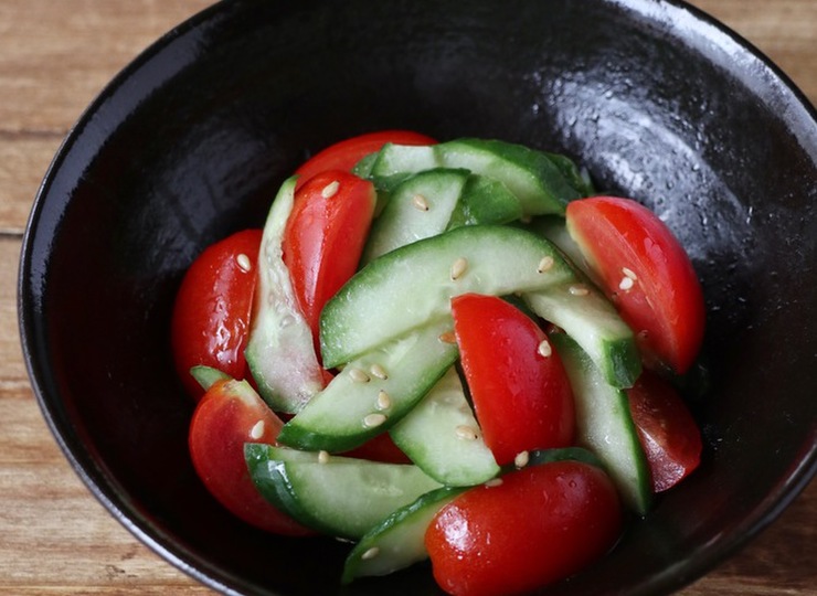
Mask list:
[[[273,0],[270,0],[273,1]],[[139,51],[209,0],[0,2],[0,593],[208,594],[91,496],[51,437],[17,326],[21,238],[68,127]],[[817,104],[817,0],[696,0]],[[817,594],[817,486],[683,594]]]

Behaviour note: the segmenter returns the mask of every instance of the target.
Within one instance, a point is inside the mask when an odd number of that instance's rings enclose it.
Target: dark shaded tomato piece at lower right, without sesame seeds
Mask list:
[[[700,464],[701,432],[681,396],[655,373],[641,373],[627,396],[652,473],[652,490],[667,490]]]

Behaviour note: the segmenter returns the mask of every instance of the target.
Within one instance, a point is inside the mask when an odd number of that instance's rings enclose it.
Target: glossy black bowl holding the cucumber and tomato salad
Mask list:
[[[225,2],[125,70],[72,130],[24,241],[21,332],[57,441],[114,517],[224,592],[438,594],[427,566],[340,589],[348,546],[242,525],[185,449],[170,306],[282,180],[383,128],[567,153],[651,205],[709,311],[701,468],[549,594],[692,582],[817,467],[817,118],[744,41],[664,0]]]

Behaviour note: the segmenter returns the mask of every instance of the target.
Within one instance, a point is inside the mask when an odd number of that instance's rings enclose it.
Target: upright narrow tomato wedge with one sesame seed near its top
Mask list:
[[[375,202],[371,182],[341,170],[321,172],[295,193],[284,263],[315,338],[323,305],[358,269]]]

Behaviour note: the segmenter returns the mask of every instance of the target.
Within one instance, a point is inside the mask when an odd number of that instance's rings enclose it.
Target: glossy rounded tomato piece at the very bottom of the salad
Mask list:
[[[615,544],[622,528],[609,478],[594,466],[565,460],[464,492],[437,512],[425,545],[444,590],[496,596],[577,573]]]

